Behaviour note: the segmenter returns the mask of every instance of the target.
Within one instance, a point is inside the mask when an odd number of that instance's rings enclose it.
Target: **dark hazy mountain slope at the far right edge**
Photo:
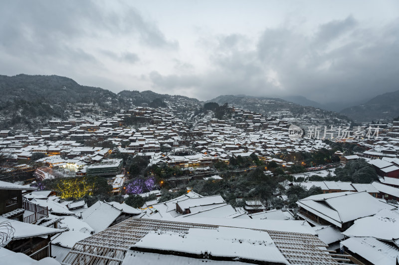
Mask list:
[[[340,113],[363,122],[392,120],[399,116],[399,90],[378,95],[364,104],[345,108]]]

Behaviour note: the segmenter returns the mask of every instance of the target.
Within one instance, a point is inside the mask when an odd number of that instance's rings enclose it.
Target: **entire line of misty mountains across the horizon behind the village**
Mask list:
[[[123,90],[114,93],[103,88],[82,86],[70,78],[56,75],[20,74],[12,77],[1,75],[0,93],[2,127],[10,127],[17,123],[30,123],[33,120],[34,122],[45,122],[51,118],[64,119],[71,114],[71,107],[68,107],[68,104],[75,103],[92,103],[108,111],[111,115],[119,113],[120,109],[131,107],[132,103],[137,106],[150,105],[155,99],[169,101],[171,104],[174,104],[177,98],[185,98],[196,105],[201,103],[200,100],[195,98],[159,94],[151,90]],[[281,109],[288,109],[292,113],[315,112],[320,109],[328,116],[348,115],[359,121],[364,121],[365,117],[370,117],[368,120],[372,120],[387,117],[395,118],[399,115],[397,106],[399,90],[379,95],[366,104],[344,109],[340,114],[326,111],[323,109],[323,104],[309,100],[304,96],[278,98],[220,95],[206,102],[229,103],[269,115]]]

